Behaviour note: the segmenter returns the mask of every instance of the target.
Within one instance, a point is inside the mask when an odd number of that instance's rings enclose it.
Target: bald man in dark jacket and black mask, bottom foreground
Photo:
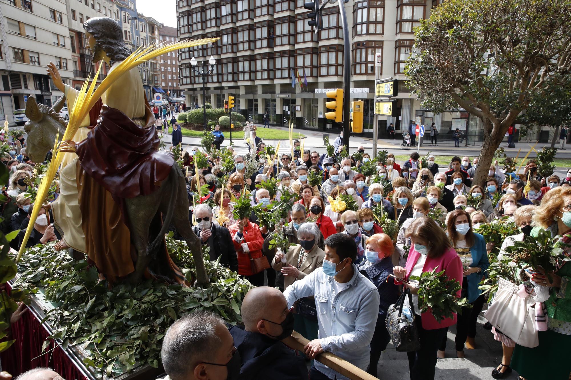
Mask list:
[[[303,357],[280,339],[293,331],[293,314],[278,289],[260,286],[250,290],[242,302],[244,326],[233,326],[230,334],[242,358],[240,379],[307,379]]]

